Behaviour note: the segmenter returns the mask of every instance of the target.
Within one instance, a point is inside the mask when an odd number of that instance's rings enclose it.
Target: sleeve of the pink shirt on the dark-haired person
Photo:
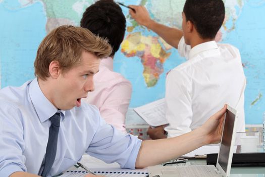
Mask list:
[[[130,104],[132,85],[129,81],[124,81],[105,91],[106,98],[100,106],[100,115],[104,120],[114,125],[117,129],[126,133],[125,117]]]

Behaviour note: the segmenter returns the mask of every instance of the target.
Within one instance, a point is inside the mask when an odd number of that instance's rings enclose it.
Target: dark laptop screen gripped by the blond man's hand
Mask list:
[[[218,163],[227,172],[228,157],[232,143],[233,127],[235,123],[236,115],[227,110],[225,117],[225,125],[223,130],[223,137],[219,152]],[[232,147],[233,148],[233,147]]]

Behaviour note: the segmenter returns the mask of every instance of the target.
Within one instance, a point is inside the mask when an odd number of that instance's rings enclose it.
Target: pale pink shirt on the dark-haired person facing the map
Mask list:
[[[94,76],[94,87],[95,90],[83,100],[95,105],[107,123],[126,132],[125,115],[131,100],[132,85],[120,73],[113,71],[111,57],[101,60],[99,72]]]

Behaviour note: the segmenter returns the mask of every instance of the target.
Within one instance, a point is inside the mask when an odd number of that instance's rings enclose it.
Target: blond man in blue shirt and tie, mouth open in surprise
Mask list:
[[[80,27],[61,26],[43,39],[36,78],[0,91],[0,176],[58,175],[85,152],[122,168],[141,168],[220,141],[225,107],[202,127],[172,139],[142,142],[105,123],[81,99],[94,90],[99,59],[111,52],[106,40]]]

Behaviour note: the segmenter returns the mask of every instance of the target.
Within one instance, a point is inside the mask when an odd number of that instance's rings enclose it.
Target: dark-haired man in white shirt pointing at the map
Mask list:
[[[167,75],[165,116],[169,125],[149,127],[147,134],[152,139],[182,135],[202,125],[224,103],[236,107],[240,119],[237,131],[245,131],[246,81],[240,53],[234,46],[215,41],[225,18],[223,1],[187,0],[182,30],[156,23],[142,6],[130,7],[136,11],[130,10],[133,19],[187,59]]]

